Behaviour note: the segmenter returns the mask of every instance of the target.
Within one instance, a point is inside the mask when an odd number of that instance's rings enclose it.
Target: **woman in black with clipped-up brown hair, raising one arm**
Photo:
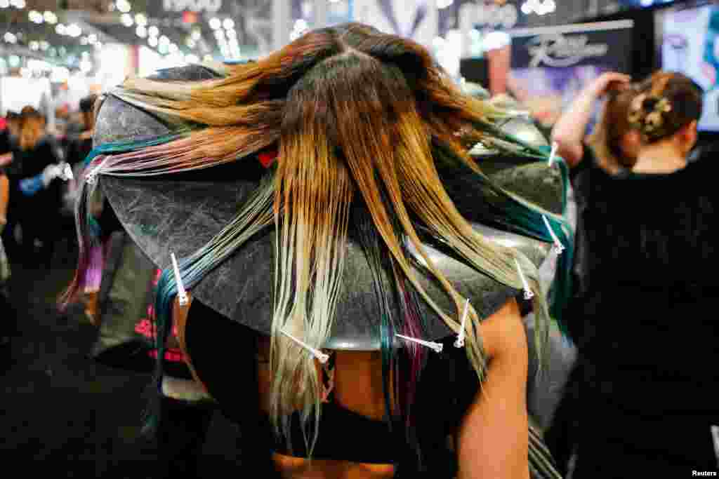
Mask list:
[[[607,90],[588,147],[582,119]],[[687,161],[701,114],[702,90],[682,74],[612,73],[554,128],[574,165],[582,282],[566,313],[581,325],[579,361],[548,442],[559,462],[574,448],[572,478],[717,470],[717,168]]]

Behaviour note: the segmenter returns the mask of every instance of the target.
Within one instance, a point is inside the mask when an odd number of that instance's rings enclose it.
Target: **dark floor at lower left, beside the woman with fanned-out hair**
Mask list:
[[[15,466],[29,477],[150,478],[155,447],[139,438],[150,376],[95,363],[88,353],[96,329],[82,308],[66,315],[55,309],[72,276],[71,249],[55,254],[50,271],[13,264],[9,289],[19,331],[9,370],[0,373],[1,468]],[[206,477],[216,477],[220,466],[237,468],[236,437],[215,414],[201,460]]]

